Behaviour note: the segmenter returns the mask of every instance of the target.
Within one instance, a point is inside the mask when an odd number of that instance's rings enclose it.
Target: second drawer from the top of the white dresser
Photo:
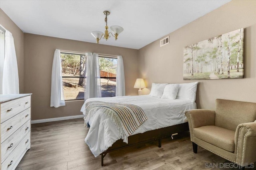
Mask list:
[[[3,143],[12,133],[18,130],[30,119],[30,107],[18,115],[1,123],[1,143]]]

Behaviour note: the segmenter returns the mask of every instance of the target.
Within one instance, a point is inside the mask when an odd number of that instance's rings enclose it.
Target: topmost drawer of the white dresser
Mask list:
[[[30,96],[1,104],[1,123],[31,106]]]

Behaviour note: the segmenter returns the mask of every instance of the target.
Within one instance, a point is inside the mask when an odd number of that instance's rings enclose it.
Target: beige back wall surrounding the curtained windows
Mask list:
[[[24,34],[24,90],[32,95],[32,120],[80,115],[82,101],[66,102],[64,107],[50,107],[52,61],[55,49],[122,55],[124,60],[126,95],[137,95],[133,88],[138,75],[138,50],[109,45],[97,45],[68,39]]]

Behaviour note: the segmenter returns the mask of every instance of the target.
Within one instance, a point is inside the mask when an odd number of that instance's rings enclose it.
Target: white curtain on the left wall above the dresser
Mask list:
[[[2,94],[19,94],[19,76],[14,39],[12,33],[5,32],[5,55],[3,66]]]

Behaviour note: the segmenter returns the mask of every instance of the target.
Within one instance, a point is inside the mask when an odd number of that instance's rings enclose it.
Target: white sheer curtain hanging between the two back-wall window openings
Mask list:
[[[99,55],[97,53],[86,53],[86,59],[86,86],[84,100],[88,98],[100,98],[101,85]]]

